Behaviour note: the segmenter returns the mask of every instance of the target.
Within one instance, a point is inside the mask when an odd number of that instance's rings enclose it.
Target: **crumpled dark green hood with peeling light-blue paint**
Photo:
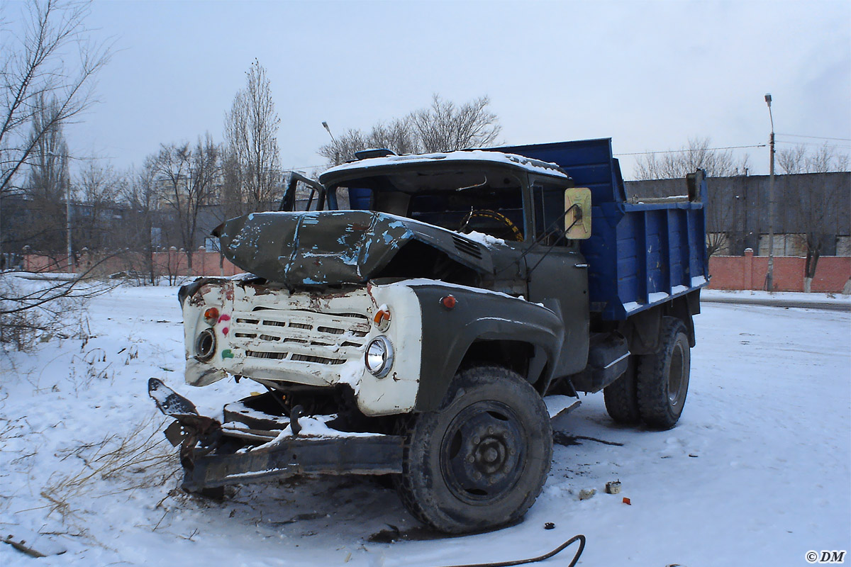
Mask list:
[[[411,240],[436,247],[479,272],[493,272],[488,247],[451,230],[387,213],[252,213],[227,220],[214,235],[233,264],[287,286],[364,283]]]

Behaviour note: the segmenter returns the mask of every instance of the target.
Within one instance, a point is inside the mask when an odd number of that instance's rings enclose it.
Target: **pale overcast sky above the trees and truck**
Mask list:
[[[779,141],[851,151],[848,0],[95,2],[89,26],[116,49],[100,104],[67,136],[116,167],[206,131],[220,141],[254,58],[285,168],[323,164],[321,122],[368,128],[434,93],[488,95],[505,144],[610,137],[623,154],[764,144],[770,92]],[[766,148],[737,151],[768,173]]]

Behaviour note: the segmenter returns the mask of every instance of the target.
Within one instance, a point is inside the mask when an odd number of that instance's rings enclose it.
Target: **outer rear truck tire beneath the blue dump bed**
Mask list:
[[[688,394],[691,353],[683,321],[663,317],[659,343],[658,351],[638,361],[638,412],[648,426],[670,429],[683,413]]]

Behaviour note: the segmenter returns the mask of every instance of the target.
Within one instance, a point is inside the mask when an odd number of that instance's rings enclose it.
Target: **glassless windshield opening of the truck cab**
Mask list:
[[[336,208],[379,211],[448,230],[523,240],[523,182],[493,169],[389,173],[331,187]]]

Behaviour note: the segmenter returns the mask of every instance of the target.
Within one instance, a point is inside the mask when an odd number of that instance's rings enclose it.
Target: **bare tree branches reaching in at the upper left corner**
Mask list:
[[[0,3],[0,197],[23,189],[20,174],[51,128],[94,102],[94,76],[109,60],[109,46],[89,39],[89,3],[30,0],[17,32],[9,30],[8,9]],[[68,65],[72,58],[77,65]],[[40,100],[54,101],[54,111],[31,134]]]

